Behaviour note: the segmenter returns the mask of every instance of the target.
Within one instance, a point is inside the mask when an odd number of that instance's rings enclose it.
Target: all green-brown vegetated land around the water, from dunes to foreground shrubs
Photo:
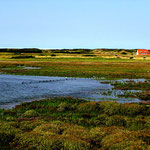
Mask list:
[[[142,78],[146,81],[112,84],[141,90],[137,96],[147,100],[121,104],[56,97],[0,109],[0,149],[150,150],[149,58],[124,49],[0,49],[2,74]]]

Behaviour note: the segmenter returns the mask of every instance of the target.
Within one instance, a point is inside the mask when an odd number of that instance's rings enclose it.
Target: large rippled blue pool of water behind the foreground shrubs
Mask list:
[[[88,100],[117,100],[138,102],[136,98],[118,98],[111,84],[85,78],[22,76],[0,74],[0,108],[11,108],[24,101],[56,96],[72,96]]]

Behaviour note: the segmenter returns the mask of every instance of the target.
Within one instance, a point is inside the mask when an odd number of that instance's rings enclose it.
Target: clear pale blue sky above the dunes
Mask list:
[[[0,0],[0,48],[150,49],[150,0]]]

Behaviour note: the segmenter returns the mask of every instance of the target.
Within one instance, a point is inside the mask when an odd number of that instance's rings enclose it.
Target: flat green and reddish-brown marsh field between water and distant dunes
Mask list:
[[[40,69],[21,69],[18,66],[40,67]],[[0,58],[0,72],[68,77],[150,78],[150,61],[78,56],[74,58]]]

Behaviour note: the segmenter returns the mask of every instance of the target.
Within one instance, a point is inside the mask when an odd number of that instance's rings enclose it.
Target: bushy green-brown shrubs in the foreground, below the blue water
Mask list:
[[[150,107],[71,97],[0,110],[1,149],[148,149]]]

